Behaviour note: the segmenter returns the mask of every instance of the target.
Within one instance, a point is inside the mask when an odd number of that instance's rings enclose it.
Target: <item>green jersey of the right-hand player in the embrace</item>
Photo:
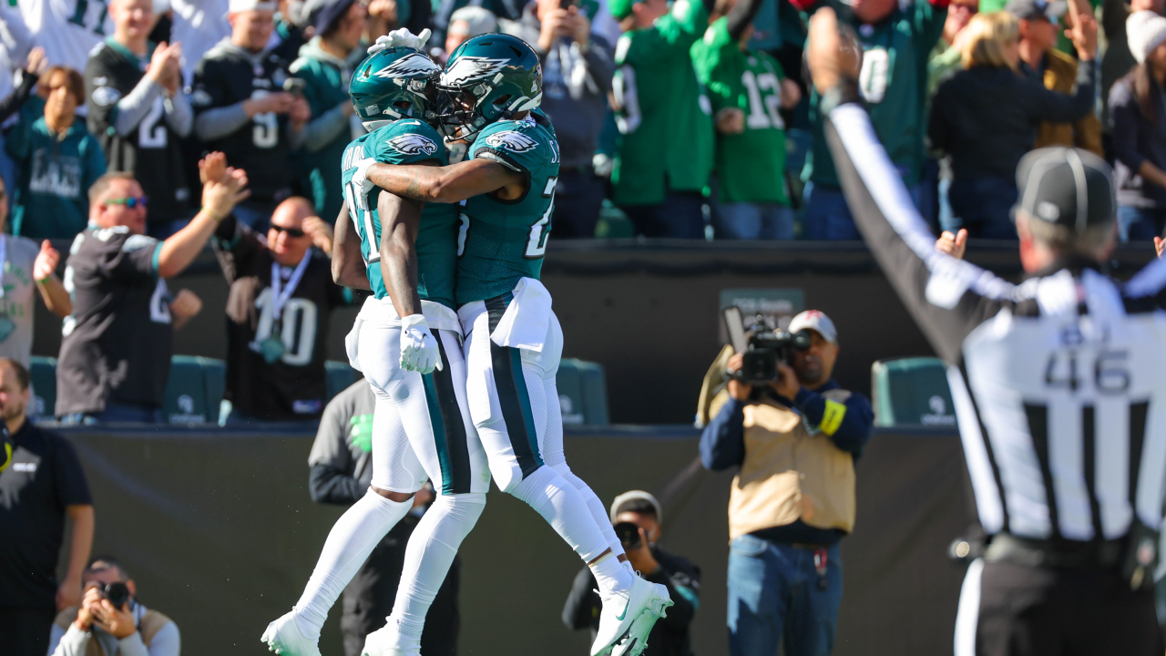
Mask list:
[[[535,112],[487,125],[466,159],[496,161],[526,176],[529,187],[517,201],[483,194],[463,203],[457,305],[500,296],[521,278],[539,279],[555,208],[559,141],[546,117]]]

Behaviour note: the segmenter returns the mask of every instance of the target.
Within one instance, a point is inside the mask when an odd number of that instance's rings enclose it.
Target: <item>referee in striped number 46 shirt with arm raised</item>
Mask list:
[[[1096,29],[1074,16],[1074,36]],[[1096,155],[1026,155],[1013,210],[1028,278],[937,252],[858,102],[858,55],[817,12],[807,53],[866,244],[949,363],[988,551],[968,568],[956,656],[1161,656],[1152,589],[1166,474],[1166,261],[1103,272],[1115,197]]]

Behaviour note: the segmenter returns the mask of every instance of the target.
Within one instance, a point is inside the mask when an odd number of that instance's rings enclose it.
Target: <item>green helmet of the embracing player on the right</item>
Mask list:
[[[437,88],[445,95],[440,130],[473,141],[487,125],[539,106],[542,65],[526,41],[482,34],[454,50]]]

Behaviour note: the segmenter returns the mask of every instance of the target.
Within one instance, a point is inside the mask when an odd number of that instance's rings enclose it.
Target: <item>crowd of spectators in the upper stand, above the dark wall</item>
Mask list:
[[[131,172],[164,238],[199,209],[208,152],[247,170],[234,216],[332,223],[364,133],[347,82],[370,43],[429,28],[444,61],[504,32],[542,57],[562,148],[555,238],[856,239],[802,72],[833,0],[20,0],[0,7],[7,231],[70,239],[92,183]],[[1124,239],[1166,223],[1163,0],[861,0],[874,130],[939,231],[1016,238],[1019,158],[1077,146],[1116,168]],[[454,147],[455,159],[464,148]],[[192,191],[194,190],[194,191]]]

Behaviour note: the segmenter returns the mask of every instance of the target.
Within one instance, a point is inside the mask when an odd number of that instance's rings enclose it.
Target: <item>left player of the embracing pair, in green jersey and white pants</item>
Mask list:
[[[329,533],[300,601],[264,634],[279,654],[319,654],[329,608],[429,480],[437,497],[409,538],[389,623],[365,643],[370,656],[416,656],[426,612],[485,508],[490,469],[466,404],[462,329],[454,310],[457,211],[388,193],[368,203],[349,184],[354,162],[366,158],[448,162],[442,138],[428,123],[437,116],[431,107],[437,72],[424,53],[382,44],[350,83],[352,103],[371,132],[344,153],[345,207],[337,219],[333,275],[373,292],[346,340],[351,364],[375,396],[373,476],[368,493]]]

